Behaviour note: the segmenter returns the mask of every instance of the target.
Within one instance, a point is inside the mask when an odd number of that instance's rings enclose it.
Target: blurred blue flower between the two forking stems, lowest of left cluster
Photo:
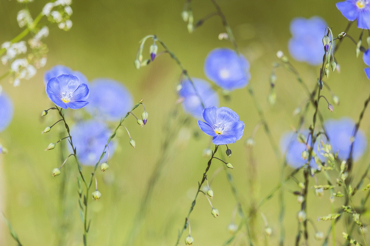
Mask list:
[[[108,127],[100,121],[88,120],[76,124],[71,128],[70,133],[73,146],[76,148],[77,160],[83,165],[97,164],[103,153],[104,146],[111,136],[111,131]],[[73,153],[70,145],[68,145],[68,148],[70,153]],[[108,148],[109,157],[111,157],[115,151],[115,146],[112,141],[105,149],[107,153],[105,153],[100,163],[108,160]]]

